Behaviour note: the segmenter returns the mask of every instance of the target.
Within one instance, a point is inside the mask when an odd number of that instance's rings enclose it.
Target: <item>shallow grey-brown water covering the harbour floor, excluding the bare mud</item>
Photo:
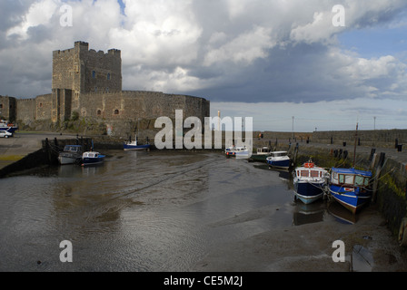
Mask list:
[[[216,152],[104,153],[0,179],[1,271],[188,271],[217,245],[335,219],[295,202],[288,172]]]

